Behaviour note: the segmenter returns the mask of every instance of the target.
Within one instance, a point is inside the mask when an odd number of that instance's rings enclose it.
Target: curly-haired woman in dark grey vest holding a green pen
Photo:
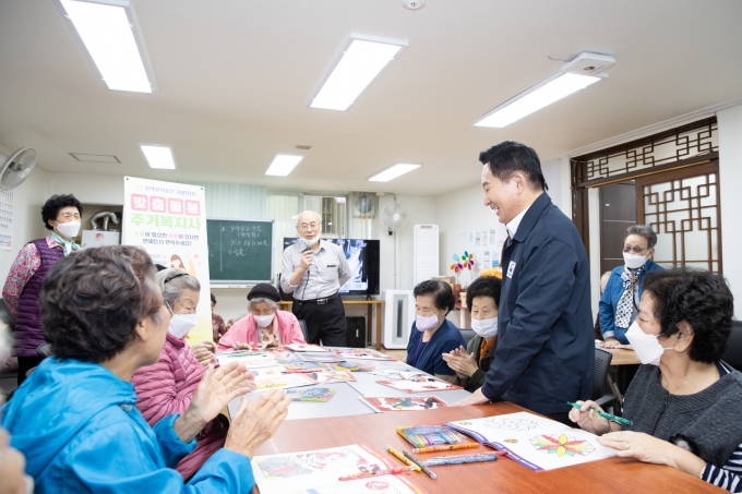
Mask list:
[[[619,456],[742,487],[742,374],[720,361],[734,313],[725,279],[685,269],[648,273],[638,312],[626,332],[643,363],[624,397],[633,425],[618,432],[622,426],[595,413],[594,401],[570,418],[602,434],[598,442]]]

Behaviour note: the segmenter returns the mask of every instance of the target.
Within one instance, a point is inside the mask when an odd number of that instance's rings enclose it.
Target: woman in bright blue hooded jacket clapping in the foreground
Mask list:
[[[224,448],[188,484],[170,469],[195,437],[244,391],[244,368],[203,373],[182,413],[151,427],[136,409],[137,369],[160,358],[170,310],[141,249],[111,245],[60,258],[44,279],[44,360],[3,408],[11,446],[26,457],[37,493],[240,492],[254,486],[250,456],[287,414],[283,391],[242,400]]]

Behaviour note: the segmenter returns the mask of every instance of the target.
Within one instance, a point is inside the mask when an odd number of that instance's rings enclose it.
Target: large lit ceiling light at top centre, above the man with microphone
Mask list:
[[[407,41],[350,35],[310,107],[347,110],[376,76],[407,48]]]

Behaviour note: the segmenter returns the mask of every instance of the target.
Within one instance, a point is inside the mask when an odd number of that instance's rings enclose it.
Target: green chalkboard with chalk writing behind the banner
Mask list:
[[[206,219],[212,282],[271,282],[273,221]]]

